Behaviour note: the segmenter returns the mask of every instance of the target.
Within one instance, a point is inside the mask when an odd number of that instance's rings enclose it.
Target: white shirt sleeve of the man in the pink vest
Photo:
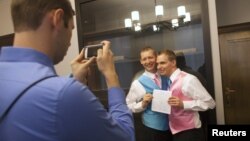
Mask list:
[[[183,101],[184,109],[206,111],[215,107],[215,101],[195,76],[184,79],[182,92],[192,100]]]

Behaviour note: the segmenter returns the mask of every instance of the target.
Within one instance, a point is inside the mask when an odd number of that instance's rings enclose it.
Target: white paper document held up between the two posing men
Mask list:
[[[168,99],[171,97],[171,91],[154,90],[152,100],[152,111],[170,114],[171,106],[168,104]]]

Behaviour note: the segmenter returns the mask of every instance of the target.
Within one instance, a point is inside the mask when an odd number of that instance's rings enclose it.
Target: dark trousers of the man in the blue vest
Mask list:
[[[149,127],[145,127],[146,141],[172,141],[170,130],[160,131]]]

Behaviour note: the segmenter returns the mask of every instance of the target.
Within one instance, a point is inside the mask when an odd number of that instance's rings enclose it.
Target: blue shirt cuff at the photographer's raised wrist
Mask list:
[[[115,104],[126,104],[125,92],[119,87],[112,87],[108,89],[108,103],[109,106]]]

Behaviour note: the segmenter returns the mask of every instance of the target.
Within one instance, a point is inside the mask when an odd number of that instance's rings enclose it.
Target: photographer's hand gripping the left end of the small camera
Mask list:
[[[71,61],[71,69],[73,76],[76,80],[80,81],[83,84],[87,83],[87,75],[89,66],[91,63],[95,61],[95,57],[91,57],[89,60],[84,59],[84,50],[80,52],[80,54]]]

